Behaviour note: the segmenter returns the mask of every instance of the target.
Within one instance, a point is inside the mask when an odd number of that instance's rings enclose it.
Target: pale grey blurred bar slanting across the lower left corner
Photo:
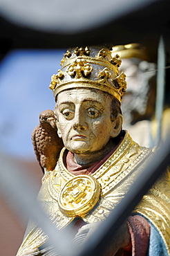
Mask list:
[[[30,217],[48,235],[49,246],[63,256],[75,255],[70,241],[73,237],[68,230],[57,230],[38,201],[35,200],[34,183],[23,175],[21,167],[4,154],[0,154],[0,192],[9,207],[18,214],[19,219],[27,221]],[[29,172],[29,170],[28,170]],[[67,244],[67,246],[66,246]]]

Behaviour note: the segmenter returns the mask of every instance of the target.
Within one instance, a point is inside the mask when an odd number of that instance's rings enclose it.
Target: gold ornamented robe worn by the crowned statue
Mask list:
[[[140,147],[138,143],[135,143],[126,131],[122,143],[115,152],[91,175],[93,180],[100,184],[100,189],[99,187],[93,189],[97,191],[98,196],[96,202],[93,203],[94,197],[91,197],[93,190],[90,191],[88,188],[88,182],[86,186],[82,184],[85,175],[75,176],[64,166],[65,150],[65,148],[62,149],[55,170],[41,185],[38,195],[38,200],[58,229],[68,226],[77,217],[77,212],[86,223],[105,219],[142,173],[153,154],[151,149]],[[76,185],[73,185],[72,179],[75,177]],[[71,190],[70,183],[73,185]],[[67,186],[69,190],[67,190]],[[90,193],[85,192],[85,187]],[[86,201],[86,194],[88,197],[90,194],[90,200]],[[74,212],[74,207],[76,208],[77,205],[79,205],[79,209]],[[81,208],[82,205],[85,205],[83,208],[85,213]],[[143,196],[134,212],[142,214],[158,229],[170,255],[170,181],[167,173],[153,185],[147,195]],[[23,240],[17,256],[28,250],[39,248],[47,239],[47,235],[42,232],[41,228],[30,223],[28,235]]]

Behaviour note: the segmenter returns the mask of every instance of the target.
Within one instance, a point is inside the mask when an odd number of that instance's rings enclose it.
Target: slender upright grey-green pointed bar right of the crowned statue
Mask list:
[[[162,141],[162,115],[164,111],[164,89],[165,89],[165,69],[166,57],[164,51],[164,40],[160,37],[158,45],[158,73],[156,86],[155,119],[157,122],[157,134],[155,145],[160,145]]]

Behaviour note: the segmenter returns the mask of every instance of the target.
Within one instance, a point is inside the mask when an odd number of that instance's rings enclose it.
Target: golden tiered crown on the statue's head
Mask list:
[[[62,68],[51,77],[54,96],[66,89],[99,89],[113,95],[120,102],[126,91],[126,75],[119,73],[122,60],[111,55],[108,48],[77,47],[66,51]]]

